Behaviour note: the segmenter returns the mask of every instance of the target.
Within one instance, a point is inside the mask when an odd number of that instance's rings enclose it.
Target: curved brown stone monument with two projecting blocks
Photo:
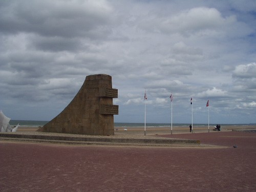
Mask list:
[[[89,75],[70,104],[39,132],[83,135],[114,135],[114,115],[118,115],[117,89],[112,89],[112,77]]]

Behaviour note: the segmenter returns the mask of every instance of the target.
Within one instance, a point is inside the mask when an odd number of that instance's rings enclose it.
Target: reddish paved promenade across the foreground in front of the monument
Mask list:
[[[165,137],[225,147],[0,142],[0,191],[256,191],[256,133]]]

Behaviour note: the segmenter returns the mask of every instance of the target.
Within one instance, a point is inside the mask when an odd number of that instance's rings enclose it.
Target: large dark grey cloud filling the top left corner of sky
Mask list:
[[[4,33],[37,33],[42,36],[103,37],[111,7],[103,1],[8,1],[2,7]]]

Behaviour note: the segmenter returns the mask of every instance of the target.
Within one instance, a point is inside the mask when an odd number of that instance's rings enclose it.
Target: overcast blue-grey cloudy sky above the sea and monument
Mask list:
[[[87,75],[118,89],[115,122],[256,123],[254,0],[0,1],[0,109],[51,120]]]

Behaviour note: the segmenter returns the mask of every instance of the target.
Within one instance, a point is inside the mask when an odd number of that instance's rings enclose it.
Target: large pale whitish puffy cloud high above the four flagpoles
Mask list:
[[[236,23],[236,17],[223,17],[215,8],[195,7],[177,14],[157,17],[150,15],[140,23],[145,30],[163,33],[179,33],[181,35],[217,36],[223,28]]]

